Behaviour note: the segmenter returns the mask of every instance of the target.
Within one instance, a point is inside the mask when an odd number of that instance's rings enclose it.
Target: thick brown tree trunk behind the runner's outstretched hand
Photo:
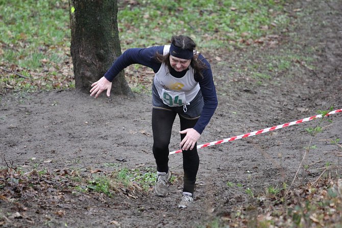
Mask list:
[[[121,55],[117,0],[69,0],[71,57],[76,89],[89,93]],[[124,71],[113,80],[113,94],[133,96]]]

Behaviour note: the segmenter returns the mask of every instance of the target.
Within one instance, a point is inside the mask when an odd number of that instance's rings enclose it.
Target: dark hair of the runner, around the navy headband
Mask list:
[[[175,45],[176,47],[182,48],[182,49],[188,49],[191,51],[196,50],[196,43],[188,36],[172,36],[171,43]],[[199,53],[195,53],[191,59],[190,66],[193,68],[193,77],[195,81],[199,81],[203,79],[202,70],[206,69],[207,66],[199,59],[197,59],[199,56]],[[170,64],[170,54],[166,54],[165,56],[163,53],[156,53],[155,59],[160,63],[165,63],[168,69],[170,70],[172,68]]]

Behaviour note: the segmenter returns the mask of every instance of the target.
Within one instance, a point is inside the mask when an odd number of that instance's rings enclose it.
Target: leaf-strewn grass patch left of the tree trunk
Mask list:
[[[63,66],[70,58],[68,1],[0,0],[0,12],[0,63],[6,72],[0,86],[27,92],[75,88],[71,67]]]

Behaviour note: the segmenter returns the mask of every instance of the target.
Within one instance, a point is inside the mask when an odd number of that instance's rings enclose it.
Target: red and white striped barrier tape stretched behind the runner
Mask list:
[[[325,116],[330,116],[332,114],[339,113],[339,112],[342,112],[342,109],[337,109],[335,111],[331,111],[331,112],[329,112]],[[301,123],[301,122],[310,121],[310,120],[313,120],[313,119],[316,119],[316,118],[322,118],[322,115],[315,115],[315,116],[307,117],[307,118],[300,119],[300,120],[297,120],[297,121],[292,121],[292,122],[289,122],[289,123],[284,123],[284,124],[280,124],[280,125],[277,125],[277,126],[272,126],[272,128],[265,128],[265,129],[262,129],[262,130],[259,130],[259,131],[255,131],[255,132],[250,132],[250,133],[247,133],[247,134],[244,134],[244,135],[238,135],[238,136],[230,137],[230,138],[227,138],[227,139],[221,139],[221,140],[214,141],[214,142],[208,142],[208,143],[205,143],[205,144],[202,144],[202,145],[198,145],[197,148],[199,149],[199,148],[203,148],[203,147],[213,146],[213,145],[222,144],[222,143],[225,143],[225,142],[234,141],[234,140],[237,140],[237,139],[243,139],[243,138],[247,138],[247,137],[250,137],[250,136],[259,135],[261,133],[271,132],[271,131],[274,131],[274,130],[277,130],[277,129],[285,128],[285,126],[295,125],[295,124],[298,124],[298,123]],[[178,153],[182,153],[182,150],[179,149],[179,150],[172,151],[172,152],[169,153],[169,155],[178,154]]]

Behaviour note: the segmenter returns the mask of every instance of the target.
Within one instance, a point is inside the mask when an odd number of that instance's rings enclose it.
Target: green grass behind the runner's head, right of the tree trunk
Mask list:
[[[265,28],[288,22],[282,11],[284,1],[179,0],[165,4],[158,0],[138,0],[137,3],[122,6],[118,12],[124,49],[162,45],[180,33],[193,37],[202,48],[226,48],[230,43],[238,45],[242,37],[256,39],[270,32]]]

